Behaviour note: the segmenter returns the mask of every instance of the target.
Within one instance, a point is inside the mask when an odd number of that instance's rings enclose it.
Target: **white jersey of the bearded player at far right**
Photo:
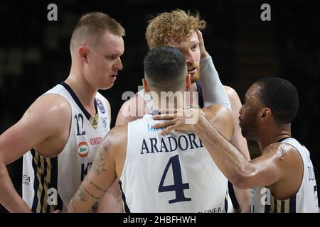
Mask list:
[[[288,143],[296,148],[302,157],[304,173],[302,184],[297,194],[286,200],[274,198],[270,189],[265,187],[252,188],[250,194],[250,212],[252,213],[311,213],[318,212],[318,192],[314,166],[309,150],[294,138],[286,138],[280,143]]]

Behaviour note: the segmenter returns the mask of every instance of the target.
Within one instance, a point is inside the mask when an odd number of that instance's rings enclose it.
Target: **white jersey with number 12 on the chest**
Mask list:
[[[95,117],[90,116],[64,82],[43,95],[46,94],[58,94],[69,102],[71,126],[68,142],[58,157],[45,158],[34,149],[23,155],[22,194],[33,212],[67,210],[70,199],[90,170],[102,138],[110,131],[106,99],[98,92]]]

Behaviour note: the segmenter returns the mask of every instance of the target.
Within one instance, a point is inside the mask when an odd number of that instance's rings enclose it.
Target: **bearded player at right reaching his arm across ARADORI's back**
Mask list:
[[[318,193],[309,150],[291,136],[291,122],[297,114],[297,89],[285,79],[264,78],[245,94],[240,109],[240,127],[245,138],[256,140],[262,155],[251,161],[199,115],[196,125],[183,117],[161,117],[169,122],[155,128],[194,131],[223,174],[242,189],[252,188],[250,212],[318,212]]]

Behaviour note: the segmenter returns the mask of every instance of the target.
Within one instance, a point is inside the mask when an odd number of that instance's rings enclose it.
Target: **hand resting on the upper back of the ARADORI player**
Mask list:
[[[162,109],[161,115],[154,116],[154,120],[166,120],[156,123],[152,128],[165,128],[161,135],[167,135],[171,131],[196,132],[196,123],[204,117],[201,109]]]

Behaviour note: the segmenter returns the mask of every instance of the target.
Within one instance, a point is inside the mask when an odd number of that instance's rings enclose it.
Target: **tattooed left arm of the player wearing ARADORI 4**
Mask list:
[[[125,143],[124,143],[125,141]],[[122,154],[127,148],[127,126],[113,128],[102,141],[92,167],[80,185],[78,192],[70,200],[68,212],[89,212],[102,198],[117,178],[117,169],[122,171]]]

